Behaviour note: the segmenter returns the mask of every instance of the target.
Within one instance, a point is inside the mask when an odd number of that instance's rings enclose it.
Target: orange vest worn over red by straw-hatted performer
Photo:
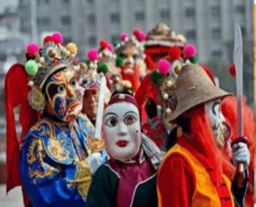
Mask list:
[[[172,153],[178,152],[179,154],[184,155],[187,160],[190,162],[190,165],[193,167],[195,177],[196,177],[196,187],[195,192],[193,194],[191,207],[222,207],[221,200],[219,198],[218,192],[213,185],[208,172],[197,160],[197,158],[190,154],[187,149],[184,149],[178,144],[175,144],[172,149],[170,149],[163,160],[162,163],[165,162],[166,158],[168,158]],[[160,166],[161,168],[161,166]],[[159,169],[160,170],[160,169]],[[172,176],[172,175],[170,175]],[[232,193],[230,192],[231,189],[231,182],[228,180],[226,175],[222,175],[223,180],[225,180],[226,185],[228,186],[230,198],[233,198]],[[161,195],[158,189],[158,198],[159,198],[159,207],[162,206],[161,202]],[[231,199],[232,206],[234,207],[234,200]]]

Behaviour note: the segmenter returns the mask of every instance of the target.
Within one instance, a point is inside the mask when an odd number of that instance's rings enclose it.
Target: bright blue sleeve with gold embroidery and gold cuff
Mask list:
[[[61,153],[56,148],[57,153]],[[45,150],[41,138],[28,137],[22,146],[22,186],[33,206],[85,206],[85,198],[91,182],[86,161],[76,164],[59,164]]]

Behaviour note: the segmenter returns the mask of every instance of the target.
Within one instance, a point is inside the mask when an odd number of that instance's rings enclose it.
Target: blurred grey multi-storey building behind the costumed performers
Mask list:
[[[39,35],[43,31],[64,33],[85,51],[98,40],[118,40],[122,32],[134,28],[145,32],[165,22],[189,42],[196,44],[198,58],[230,61],[234,22],[244,40],[253,40],[253,1],[251,0],[33,0]],[[30,33],[31,0],[19,0],[21,31]]]

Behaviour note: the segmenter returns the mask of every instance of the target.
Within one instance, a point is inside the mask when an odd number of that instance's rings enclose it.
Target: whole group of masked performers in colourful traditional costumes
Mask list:
[[[77,53],[53,33],[9,69],[7,191],[26,207],[253,206],[253,112],[244,97],[239,137],[196,46],[159,24]]]

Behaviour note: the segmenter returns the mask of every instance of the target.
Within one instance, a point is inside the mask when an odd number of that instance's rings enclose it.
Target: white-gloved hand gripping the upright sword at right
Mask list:
[[[238,162],[241,162],[245,165],[245,168],[247,168],[250,163],[250,152],[247,147],[247,143],[234,143],[232,149],[232,161],[234,163],[234,166],[236,166]]]

